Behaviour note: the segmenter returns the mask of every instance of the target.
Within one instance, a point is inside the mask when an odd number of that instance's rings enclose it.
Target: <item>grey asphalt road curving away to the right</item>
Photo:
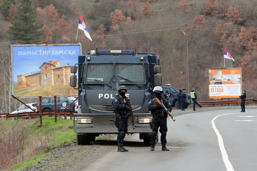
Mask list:
[[[169,151],[160,142],[150,151],[134,134],[129,152],[109,152],[85,170],[256,170],[257,107],[202,109],[168,119]]]

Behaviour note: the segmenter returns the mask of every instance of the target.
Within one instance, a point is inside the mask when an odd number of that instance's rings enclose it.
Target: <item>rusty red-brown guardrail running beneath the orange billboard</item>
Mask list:
[[[254,98],[247,98],[245,99],[245,102],[248,103],[248,102],[253,102],[253,103],[257,103],[257,100],[254,99]],[[198,101],[199,104],[201,105],[217,105],[217,104],[221,104],[221,106],[223,104],[225,105],[229,105],[231,103],[236,103],[236,105],[240,104],[241,103],[241,99],[233,99],[233,100],[219,100],[219,101]]]

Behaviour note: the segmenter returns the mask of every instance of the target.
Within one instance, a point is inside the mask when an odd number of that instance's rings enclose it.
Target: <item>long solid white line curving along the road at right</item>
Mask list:
[[[235,113],[229,113],[229,114],[224,114],[224,115],[231,115],[231,114],[235,114]],[[218,115],[216,116],[215,118],[212,119],[211,123],[212,123],[212,128],[213,130],[215,131],[217,137],[218,137],[218,142],[219,142],[219,147],[220,147],[220,150],[221,150],[221,155],[222,155],[222,159],[223,159],[223,162],[227,168],[228,171],[234,171],[234,168],[232,166],[232,164],[230,163],[229,161],[229,158],[228,158],[228,155],[227,155],[227,151],[225,150],[225,147],[224,147],[224,142],[223,142],[223,139],[222,139],[222,136],[221,134],[219,133],[218,129],[216,128],[216,125],[214,123],[215,119],[220,117],[220,116],[224,116],[224,115]]]

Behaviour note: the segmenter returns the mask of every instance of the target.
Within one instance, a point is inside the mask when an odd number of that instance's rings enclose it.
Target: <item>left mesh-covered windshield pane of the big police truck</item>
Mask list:
[[[88,63],[86,66],[85,83],[109,82],[113,73],[113,64]]]

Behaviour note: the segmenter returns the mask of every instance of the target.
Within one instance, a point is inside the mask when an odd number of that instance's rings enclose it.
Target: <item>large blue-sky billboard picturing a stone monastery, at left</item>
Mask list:
[[[12,94],[16,97],[77,96],[70,68],[78,63],[81,44],[11,45]]]

